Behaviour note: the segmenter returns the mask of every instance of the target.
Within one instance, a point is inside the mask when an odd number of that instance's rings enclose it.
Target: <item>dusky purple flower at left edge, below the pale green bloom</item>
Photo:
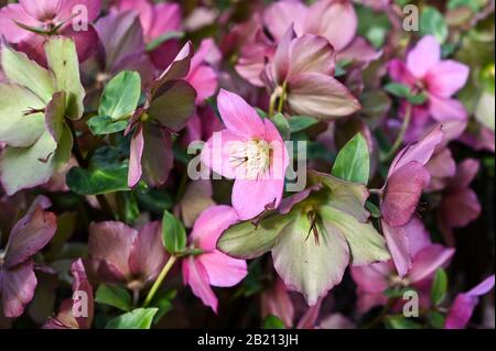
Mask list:
[[[34,256],[55,234],[56,217],[35,202],[12,228],[9,241],[0,251],[0,300],[6,317],[22,315],[36,288]]]

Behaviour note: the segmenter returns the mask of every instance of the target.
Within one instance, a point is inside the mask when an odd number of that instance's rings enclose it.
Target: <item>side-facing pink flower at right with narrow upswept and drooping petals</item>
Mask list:
[[[442,140],[443,132],[439,127],[423,140],[401,150],[389,167],[388,178],[382,188],[380,222],[401,277],[411,268],[412,254],[407,234],[408,226],[423,189],[431,180],[425,164]]]

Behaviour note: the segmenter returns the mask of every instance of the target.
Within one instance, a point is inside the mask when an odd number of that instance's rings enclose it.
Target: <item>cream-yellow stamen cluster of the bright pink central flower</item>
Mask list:
[[[234,142],[229,150],[229,164],[237,177],[255,180],[270,166],[270,146],[266,141]]]

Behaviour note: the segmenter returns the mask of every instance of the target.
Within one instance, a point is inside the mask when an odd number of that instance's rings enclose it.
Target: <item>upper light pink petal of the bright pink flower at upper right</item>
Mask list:
[[[422,79],[441,59],[441,45],[432,35],[425,35],[407,55],[408,70]]]

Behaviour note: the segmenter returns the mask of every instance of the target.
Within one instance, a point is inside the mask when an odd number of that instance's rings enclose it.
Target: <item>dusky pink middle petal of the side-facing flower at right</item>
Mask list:
[[[380,204],[384,220],[392,227],[407,224],[430,180],[425,167],[414,161],[390,175]]]

